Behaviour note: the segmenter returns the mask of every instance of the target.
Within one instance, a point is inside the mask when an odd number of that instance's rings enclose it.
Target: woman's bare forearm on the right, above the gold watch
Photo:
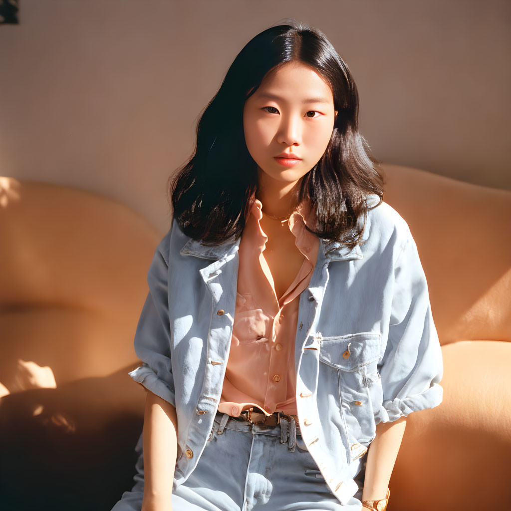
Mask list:
[[[376,437],[369,446],[362,500],[384,499],[398,457],[406,427],[406,417],[376,426]]]

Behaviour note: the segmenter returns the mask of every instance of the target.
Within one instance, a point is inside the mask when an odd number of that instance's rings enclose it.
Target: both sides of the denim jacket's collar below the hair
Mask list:
[[[238,251],[240,247],[241,237],[236,241],[224,242],[221,245],[205,246],[198,240],[189,238],[187,243],[181,248],[181,255],[194,255],[203,259],[225,259],[228,255]],[[355,245],[353,249],[349,249],[338,241],[332,241],[321,238],[321,249],[328,262],[330,261],[351,261],[353,259],[363,259],[360,245]]]

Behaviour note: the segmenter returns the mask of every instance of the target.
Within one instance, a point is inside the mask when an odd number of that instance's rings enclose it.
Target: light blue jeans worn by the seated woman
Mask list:
[[[283,421],[284,422],[284,421]],[[282,424],[282,422],[281,422]],[[287,425],[287,423],[284,422]],[[287,428],[286,428],[287,429]],[[263,426],[217,412],[195,470],[172,494],[173,511],[360,511],[367,453],[355,480],[359,491],[345,505],[337,500],[296,433],[281,443],[281,425]],[[137,446],[142,451],[142,447]],[[141,511],[144,459],[136,463],[135,485],[111,511]]]

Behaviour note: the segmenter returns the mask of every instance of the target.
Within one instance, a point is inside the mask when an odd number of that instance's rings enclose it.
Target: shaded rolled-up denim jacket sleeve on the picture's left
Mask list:
[[[135,332],[135,353],[142,365],[128,374],[135,382],[175,407],[167,286],[169,267],[160,246],[161,243],[147,274],[149,293]]]

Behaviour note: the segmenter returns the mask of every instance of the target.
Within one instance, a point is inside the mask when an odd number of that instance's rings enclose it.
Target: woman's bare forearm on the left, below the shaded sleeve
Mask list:
[[[144,412],[144,499],[143,511],[167,511],[171,507],[177,457],[176,409],[147,391]]]

